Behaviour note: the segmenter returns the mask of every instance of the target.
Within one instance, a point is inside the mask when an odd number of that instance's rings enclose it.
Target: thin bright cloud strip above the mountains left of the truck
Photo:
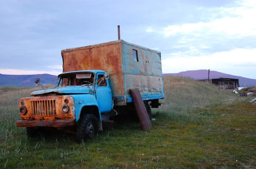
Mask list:
[[[51,74],[59,75],[61,71],[38,71],[38,70],[16,70],[16,69],[0,69],[1,74],[9,75],[32,75],[32,74]]]

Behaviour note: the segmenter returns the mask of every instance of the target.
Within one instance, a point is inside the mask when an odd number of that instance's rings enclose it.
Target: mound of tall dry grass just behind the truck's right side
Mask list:
[[[166,76],[163,79],[165,98],[160,100],[162,105],[158,109],[153,109],[153,114],[163,115],[167,120],[200,120],[202,117],[190,115],[196,108],[231,103],[238,97],[187,77]]]

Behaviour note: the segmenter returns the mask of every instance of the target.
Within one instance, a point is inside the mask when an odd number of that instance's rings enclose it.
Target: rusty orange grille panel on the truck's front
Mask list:
[[[68,99],[66,104],[64,99]],[[71,96],[35,96],[30,98],[20,99],[24,105],[20,104],[20,107],[26,107],[27,113],[25,115],[20,114],[20,118],[26,121],[51,121],[56,119],[75,119],[75,102]],[[68,105],[70,110],[68,113],[62,111],[62,107]]]

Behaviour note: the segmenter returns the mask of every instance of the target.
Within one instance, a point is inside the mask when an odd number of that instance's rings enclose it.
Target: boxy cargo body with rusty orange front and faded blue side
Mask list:
[[[138,62],[133,60],[138,51]],[[162,99],[163,76],[160,52],[123,40],[71,48],[61,51],[63,72],[104,70],[110,73],[112,96],[123,96],[115,106],[126,105],[132,98],[129,90],[138,88],[143,100]]]

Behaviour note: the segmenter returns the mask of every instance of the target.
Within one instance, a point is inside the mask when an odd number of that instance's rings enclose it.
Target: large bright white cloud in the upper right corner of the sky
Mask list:
[[[208,22],[169,25],[163,28],[166,37],[176,34],[193,34],[195,37],[207,34],[225,34],[229,38],[256,35],[256,1],[244,0],[237,8],[219,8],[218,13],[225,17]],[[151,28],[153,31],[154,29]],[[201,34],[204,32],[204,34]]]

